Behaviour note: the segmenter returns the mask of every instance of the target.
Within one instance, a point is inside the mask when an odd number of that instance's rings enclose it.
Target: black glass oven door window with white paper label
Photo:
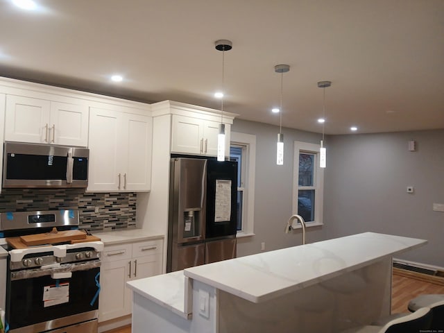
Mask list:
[[[71,278],[59,280],[53,280],[50,275],[9,280],[6,316],[10,330],[98,309],[99,298],[94,300],[94,296],[99,289],[95,280],[99,271],[99,267],[87,271],[74,271]],[[67,284],[69,287],[66,287]],[[67,302],[56,300],[48,303],[48,287],[56,285],[62,288],[61,295],[56,297],[65,297],[68,289]],[[94,302],[91,305],[92,300]]]

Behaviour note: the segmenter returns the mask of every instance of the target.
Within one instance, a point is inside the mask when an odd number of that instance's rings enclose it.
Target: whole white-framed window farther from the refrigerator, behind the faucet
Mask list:
[[[307,225],[323,224],[324,171],[319,167],[318,144],[294,142],[293,213]]]

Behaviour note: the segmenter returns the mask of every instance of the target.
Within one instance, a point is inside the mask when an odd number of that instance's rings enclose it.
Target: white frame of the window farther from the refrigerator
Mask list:
[[[324,169],[319,167],[320,144],[310,144],[308,142],[294,142],[293,154],[293,214],[298,214],[298,194],[300,189],[314,189],[314,221],[306,221],[307,227],[323,225],[323,204],[324,204]],[[299,186],[299,154],[314,154],[314,186]],[[302,228],[298,225],[297,228]]]

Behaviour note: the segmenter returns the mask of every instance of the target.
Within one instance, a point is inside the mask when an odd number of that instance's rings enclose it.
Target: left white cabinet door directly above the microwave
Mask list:
[[[5,140],[49,143],[49,101],[6,96]]]

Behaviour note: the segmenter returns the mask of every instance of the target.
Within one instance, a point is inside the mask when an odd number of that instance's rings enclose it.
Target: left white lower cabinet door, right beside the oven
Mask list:
[[[130,264],[130,260],[102,263],[99,321],[108,321],[131,313],[131,291],[126,287]]]

